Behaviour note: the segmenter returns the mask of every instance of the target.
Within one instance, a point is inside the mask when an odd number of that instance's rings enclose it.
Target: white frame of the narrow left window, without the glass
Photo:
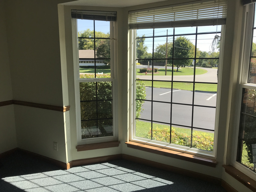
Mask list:
[[[117,22],[110,21],[110,57],[111,57],[111,78],[92,78],[92,79],[80,79],[79,71],[79,54],[78,54],[78,31],[77,31],[77,19],[72,18],[72,41],[74,49],[74,89],[76,98],[76,133],[77,133],[77,144],[90,144],[98,142],[107,142],[118,140],[118,81],[117,81]],[[81,133],[81,111],[80,111],[80,82],[112,82],[112,99],[113,99],[113,136],[108,137],[96,137],[82,139]]]

